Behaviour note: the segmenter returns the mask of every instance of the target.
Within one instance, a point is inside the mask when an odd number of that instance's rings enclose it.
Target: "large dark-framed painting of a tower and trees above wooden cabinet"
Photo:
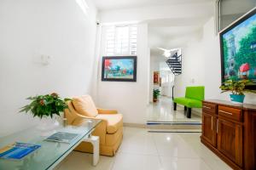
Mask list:
[[[219,34],[222,83],[226,80],[252,80],[256,89],[256,8]]]

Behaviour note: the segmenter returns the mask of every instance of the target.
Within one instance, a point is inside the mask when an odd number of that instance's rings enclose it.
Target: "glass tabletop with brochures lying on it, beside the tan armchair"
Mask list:
[[[70,143],[51,142],[45,140],[49,136],[42,136],[42,131],[37,127],[31,127],[19,133],[0,138],[0,149],[15,142],[27,144],[40,144],[41,147],[19,161],[0,159],[0,169],[3,170],[44,170],[52,169],[73,148],[101,122],[101,120],[86,119],[79,126],[60,125],[55,132],[78,133],[78,137]]]

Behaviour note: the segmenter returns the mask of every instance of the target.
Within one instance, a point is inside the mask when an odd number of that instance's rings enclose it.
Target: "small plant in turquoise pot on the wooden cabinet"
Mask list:
[[[245,80],[245,79],[239,80],[239,81],[228,80],[224,82],[224,84],[219,88],[222,89],[221,93],[228,92],[228,91],[232,93],[230,94],[231,101],[243,103],[243,100],[245,98],[244,93],[249,92],[249,93],[256,94],[256,90],[245,89],[246,85],[250,85],[251,83],[252,82],[250,80]]]

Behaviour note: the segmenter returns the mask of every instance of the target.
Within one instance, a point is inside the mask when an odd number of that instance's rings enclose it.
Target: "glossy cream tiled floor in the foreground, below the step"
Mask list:
[[[226,170],[231,169],[200,142],[200,133],[148,133],[125,127],[116,156],[101,156],[96,167],[91,154],[72,152],[57,170]]]

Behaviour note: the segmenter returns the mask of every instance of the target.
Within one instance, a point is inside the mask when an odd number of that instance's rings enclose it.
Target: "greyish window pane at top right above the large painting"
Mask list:
[[[256,6],[256,0],[218,0],[217,30],[222,31],[232,22]]]

